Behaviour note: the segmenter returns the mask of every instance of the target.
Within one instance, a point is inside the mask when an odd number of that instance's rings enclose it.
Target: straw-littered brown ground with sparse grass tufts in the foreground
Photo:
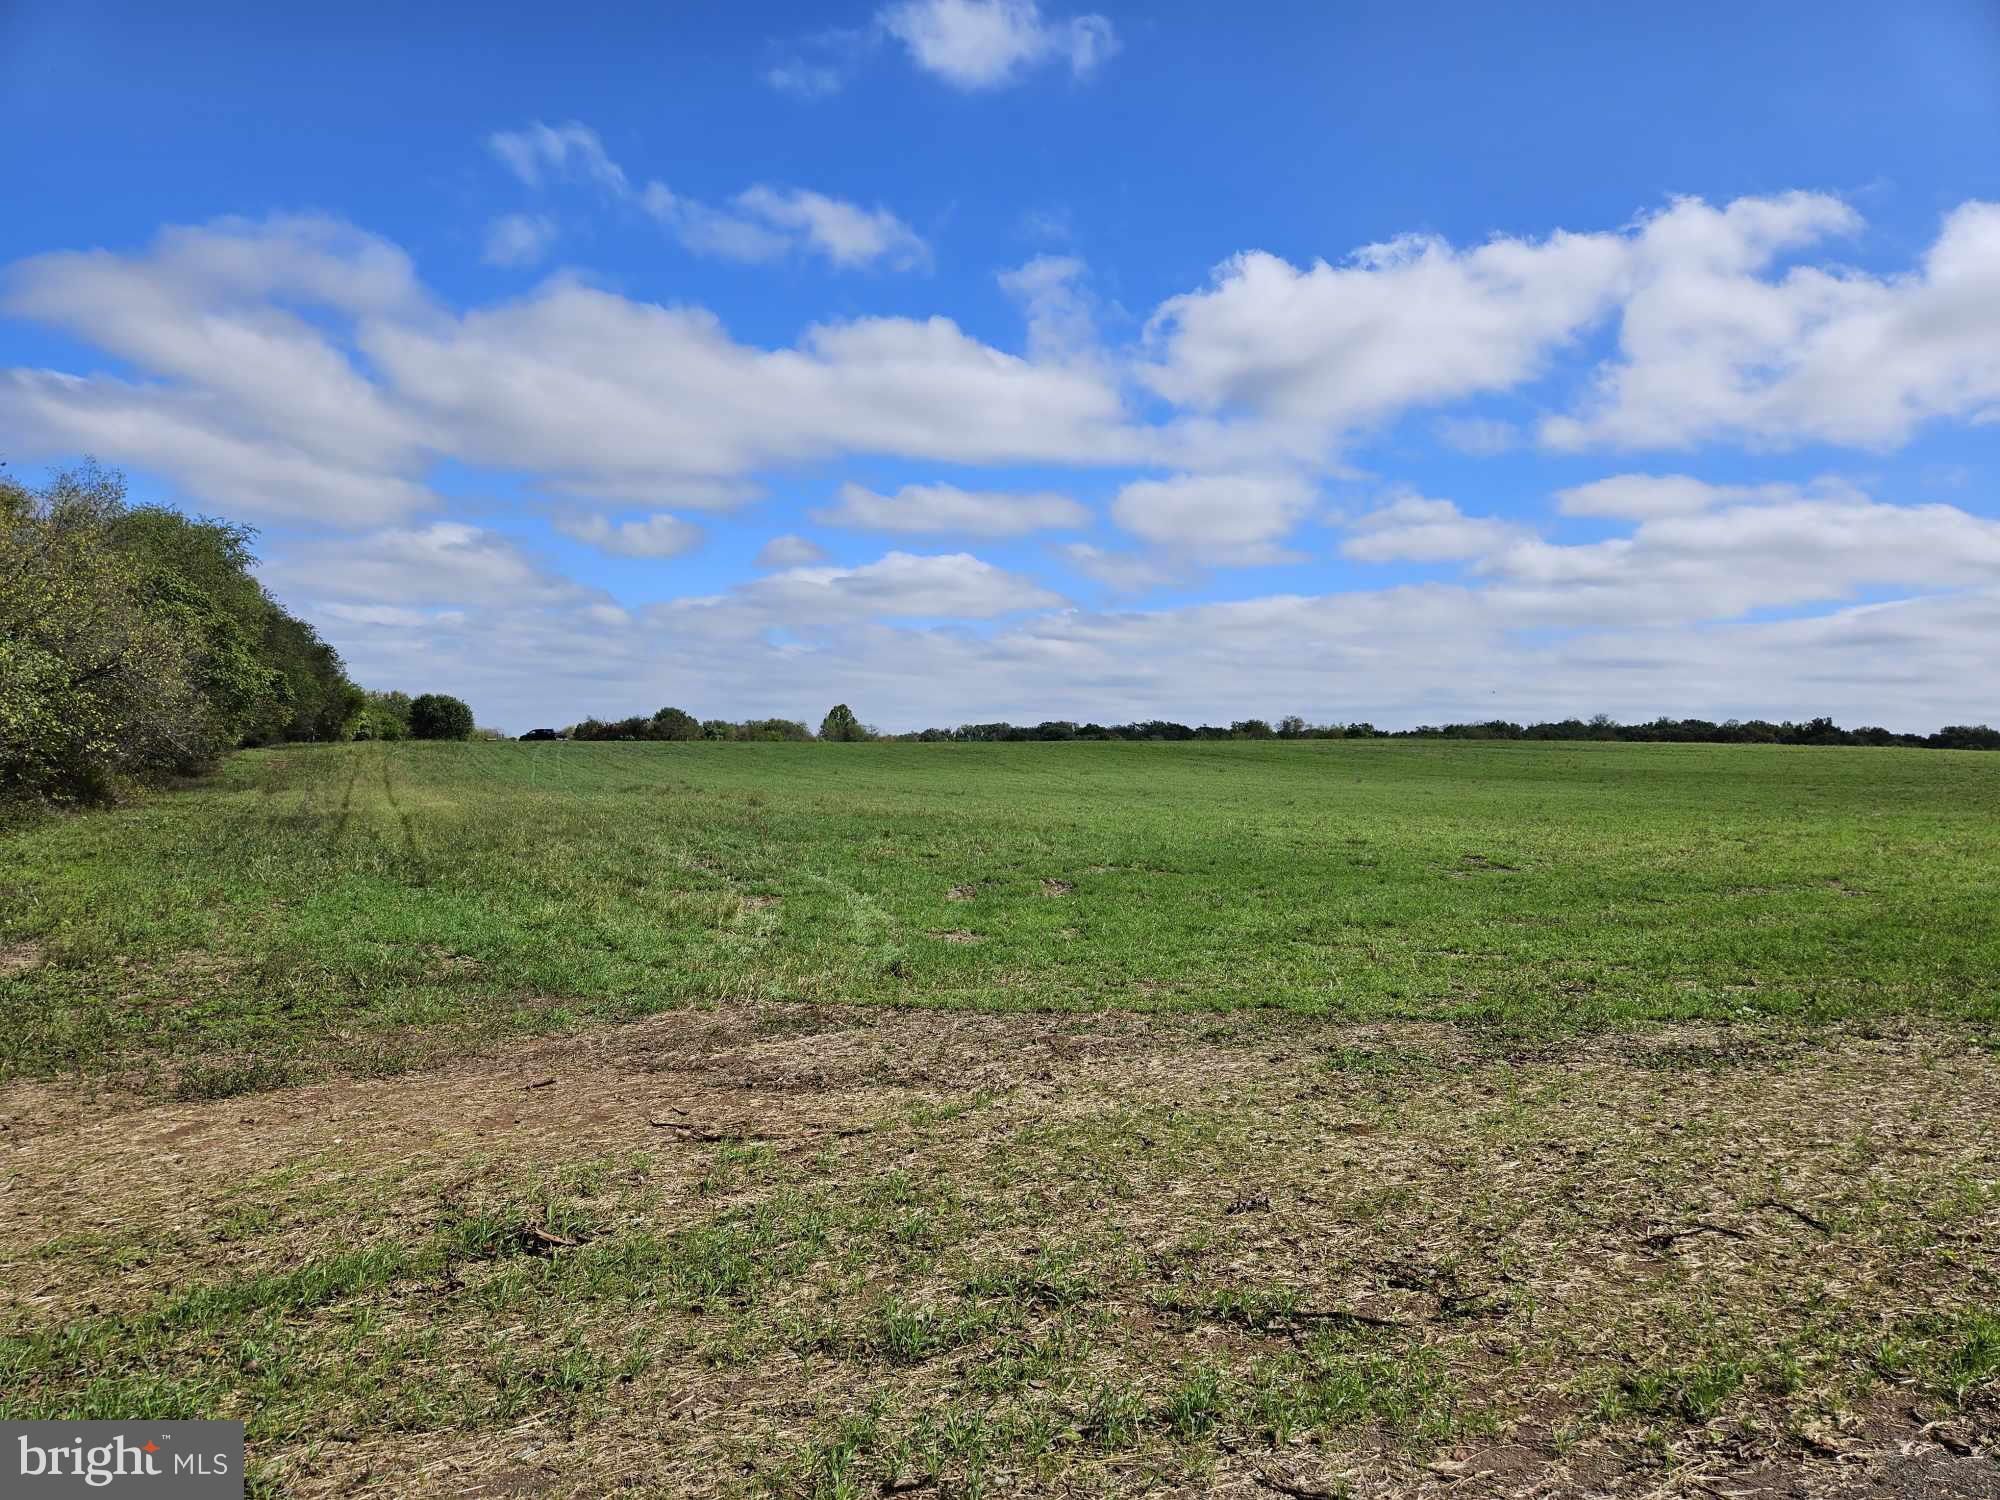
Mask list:
[[[732,1004],[0,1088],[0,1416],[296,1496],[2000,1496],[2000,1054],[1934,1022]]]

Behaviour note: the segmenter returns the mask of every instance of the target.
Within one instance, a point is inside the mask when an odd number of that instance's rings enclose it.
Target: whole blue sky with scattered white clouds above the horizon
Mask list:
[[[0,130],[12,468],[512,730],[2000,718],[1990,4],[16,0]]]

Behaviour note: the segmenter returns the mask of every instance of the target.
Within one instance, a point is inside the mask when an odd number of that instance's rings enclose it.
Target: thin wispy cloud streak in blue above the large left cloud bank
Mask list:
[[[612,160],[598,132],[578,120],[562,126],[538,120],[522,130],[498,130],[488,136],[488,146],[524,186],[594,184],[612,200],[650,216],[696,254],[766,262],[808,252],[842,268],[880,264],[890,270],[918,270],[930,264],[930,246],[886,208],[862,208],[824,192],[772,188],[762,182],[744,188],[728,206],[718,208],[676,194],[658,178],[634,182]],[[554,226],[548,226],[544,238],[536,240],[540,224],[548,222],[514,214],[500,220],[494,234],[506,244],[526,242],[538,256],[554,236]],[[490,238],[488,256],[492,252]]]

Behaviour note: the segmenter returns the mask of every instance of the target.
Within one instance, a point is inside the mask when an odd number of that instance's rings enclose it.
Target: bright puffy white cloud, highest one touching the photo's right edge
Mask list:
[[[1544,422],[1544,442],[1894,448],[1936,418],[2000,418],[2000,204],[1956,208],[1906,274],[1772,274],[1782,252],[1856,228],[1844,204],[1804,194],[1660,214],[1618,360],[1572,416]]]

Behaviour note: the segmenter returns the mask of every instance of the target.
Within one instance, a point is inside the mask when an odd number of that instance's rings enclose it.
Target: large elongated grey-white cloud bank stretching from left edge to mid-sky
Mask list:
[[[0,376],[24,456],[98,452],[232,512],[334,526],[436,504],[440,458],[564,496],[716,508],[764,470],[842,454],[1090,464],[1142,442],[1106,374],[946,318],[822,324],[766,350],[702,308],[568,278],[450,312],[394,246],[322,220],[42,256],[10,272],[6,308],[140,372]]]

